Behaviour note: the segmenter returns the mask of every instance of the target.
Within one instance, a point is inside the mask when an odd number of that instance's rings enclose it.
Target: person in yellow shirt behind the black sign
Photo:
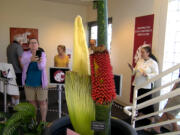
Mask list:
[[[66,55],[66,47],[64,45],[57,46],[58,54],[54,57],[55,67],[68,67],[69,56]]]

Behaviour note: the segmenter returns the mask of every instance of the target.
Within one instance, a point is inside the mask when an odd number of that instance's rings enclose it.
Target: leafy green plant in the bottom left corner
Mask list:
[[[35,107],[27,102],[20,103],[14,107],[14,113],[0,112],[0,118],[7,119],[0,123],[1,135],[42,135],[46,122],[38,122]]]

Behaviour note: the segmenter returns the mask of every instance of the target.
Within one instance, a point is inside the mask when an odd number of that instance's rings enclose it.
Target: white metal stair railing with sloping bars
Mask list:
[[[136,129],[136,131],[143,130],[143,129],[148,129],[148,128],[153,128],[153,127],[157,127],[157,126],[163,126],[163,125],[167,125],[167,124],[171,124],[171,123],[175,123],[175,122],[180,121],[179,118],[176,118],[176,119],[167,120],[167,121],[163,121],[163,122],[159,122],[159,123],[155,123],[155,124],[136,127],[136,122],[138,120],[142,120],[142,119],[145,119],[145,118],[150,118],[150,117],[153,117],[153,116],[155,117],[156,115],[159,115],[160,113],[165,113],[165,112],[168,112],[168,111],[173,111],[173,110],[176,110],[176,109],[180,109],[180,105],[176,105],[176,106],[169,107],[169,108],[166,108],[166,109],[163,109],[163,110],[159,110],[159,111],[156,111],[156,112],[153,112],[153,113],[150,113],[150,114],[146,114],[146,115],[143,115],[143,116],[137,116],[137,112],[138,112],[139,109],[145,108],[145,107],[147,107],[149,105],[157,104],[162,100],[165,100],[165,99],[168,99],[168,98],[173,98],[175,96],[180,95],[180,88],[177,88],[176,90],[170,91],[167,94],[160,95],[160,96],[154,97],[154,98],[152,98],[152,99],[150,99],[148,101],[145,101],[143,103],[137,104],[137,100],[142,99],[145,96],[148,96],[148,95],[154,94],[156,92],[159,92],[163,88],[168,87],[168,86],[170,86],[170,85],[172,85],[174,83],[180,82],[180,79],[176,79],[176,80],[173,80],[172,82],[168,82],[168,83],[166,83],[166,84],[164,84],[164,85],[162,85],[162,86],[160,86],[158,88],[154,88],[150,92],[147,92],[147,93],[145,93],[145,94],[143,94],[141,96],[137,96],[138,95],[138,89],[146,86],[149,83],[153,83],[156,80],[161,79],[162,77],[166,76],[169,73],[174,72],[177,69],[180,69],[180,64],[178,64],[178,65],[176,65],[176,66],[174,66],[174,67],[160,73],[158,76],[155,76],[154,78],[152,78],[152,79],[146,81],[145,83],[143,83],[143,84],[141,84],[139,86],[136,86],[134,88],[133,106],[124,107],[124,112],[132,117],[131,124]],[[168,132],[168,134],[178,135],[178,134],[180,134],[180,131]],[[166,135],[166,133],[163,134],[163,135]]]

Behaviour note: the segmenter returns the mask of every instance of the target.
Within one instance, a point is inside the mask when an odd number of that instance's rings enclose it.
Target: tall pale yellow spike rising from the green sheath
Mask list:
[[[80,66],[81,65],[81,66]],[[82,18],[77,16],[74,23],[74,47],[72,71],[90,75],[89,51]]]

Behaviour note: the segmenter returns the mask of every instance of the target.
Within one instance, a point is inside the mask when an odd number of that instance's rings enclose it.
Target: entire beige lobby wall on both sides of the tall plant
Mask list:
[[[131,71],[135,17],[155,14],[153,53],[162,66],[168,0],[108,0],[113,18],[111,63],[115,74],[123,75],[122,96],[117,101],[130,104]],[[0,0],[0,61],[6,62],[9,27],[37,28],[40,46],[47,53],[47,69],[53,66],[56,47],[62,43],[72,49],[74,18],[96,20],[96,10],[80,5],[58,4],[42,0]]]

